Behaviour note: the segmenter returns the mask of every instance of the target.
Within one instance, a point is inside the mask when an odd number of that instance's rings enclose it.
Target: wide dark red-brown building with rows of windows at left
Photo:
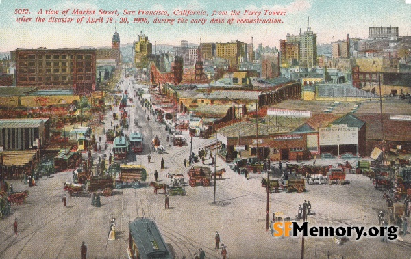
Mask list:
[[[96,83],[96,49],[16,49],[17,87],[90,93]]]

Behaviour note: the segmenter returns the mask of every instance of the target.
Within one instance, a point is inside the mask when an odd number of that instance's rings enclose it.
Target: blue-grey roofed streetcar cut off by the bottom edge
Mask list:
[[[147,217],[129,223],[127,254],[129,259],[174,258],[157,225]]]

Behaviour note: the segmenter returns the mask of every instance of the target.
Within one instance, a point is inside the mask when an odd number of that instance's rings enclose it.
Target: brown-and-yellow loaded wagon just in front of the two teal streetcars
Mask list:
[[[120,165],[120,172],[116,175],[116,188],[138,188],[147,178],[147,172],[142,165]]]

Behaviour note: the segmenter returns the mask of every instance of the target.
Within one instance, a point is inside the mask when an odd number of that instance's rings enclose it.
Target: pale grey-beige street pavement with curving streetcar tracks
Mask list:
[[[128,84],[131,85],[126,79],[123,87]],[[0,221],[0,258],[79,258],[82,241],[88,246],[88,258],[127,258],[127,223],[136,217],[155,220],[175,258],[194,258],[200,247],[206,251],[207,258],[221,258],[214,250],[216,231],[221,243],[227,246],[228,258],[301,258],[301,238],[273,238],[271,232],[266,231],[266,193],[261,187],[265,174],[250,174],[246,180],[244,175],[232,172],[225,162],[217,159],[217,169],[225,168],[227,172],[223,179],[216,180],[216,204],[213,204],[213,186],[186,185],[186,195],[171,196],[170,209],[165,210],[164,193],[153,193],[148,183],[154,180],[155,169],[160,172],[162,183],[169,183],[167,172],[184,173],[188,179],[188,168],[184,168],[183,161],[190,152],[190,138],[185,136],[187,146],[169,146],[164,125],[152,120],[147,122],[136,98],[129,110],[132,119],[138,118],[141,122],[141,128],[136,130],[142,131],[145,137],[144,152],[130,154],[128,159],[129,163],[141,163],[147,169],[149,174],[142,187],[116,189],[111,197],[101,197],[101,208],[91,206],[88,197],[68,195],[68,208],[63,208],[62,185],[71,181],[71,171],[42,177],[34,187],[11,181],[15,191],[28,189],[29,196],[25,204],[12,206],[12,214]],[[105,128],[111,128],[111,115],[107,115]],[[166,154],[151,153],[151,163],[148,163],[148,142],[155,135],[166,144]],[[214,139],[193,137],[192,150],[197,152],[212,141]],[[109,154],[110,149],[109,145],[108,150],[95,152],[93,156]],[[161,158],[165,160],[163,170],[160,170]],[[316,165],[338,162],[317,160]],[[371,180],[362,175],[348,174],[347,180],[351,182],[349,185],[306,185],[304,193],[272,193],[270,219],[272,213],[278,211],[294,219],[298,204],[310,200],[315,213],[308,216],[312,225],[354,226],[365,224],[365,219],[366,226],[376,225],[379,210],[385,210],[384,191],[375,190]],[[14,236],[14,217],[18,218],[18,236]],[[108,241],[112,217],[117,223],[116,240]],[[410,234],[403,241],[382,243],[379,238],[360,241],[351,238],[343,245],[337,245],[332,238],[305,238],[304,251],[305,258],[408,258],[410,243]]]

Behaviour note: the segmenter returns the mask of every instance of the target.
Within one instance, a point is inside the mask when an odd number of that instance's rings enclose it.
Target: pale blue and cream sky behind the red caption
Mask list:
[[[0,0],[0,51],[12,51],[19,48],[38,48],[44,46],[47,48],[78,47],[78,46],[110,46],[112,34],[114,33],[114,23],[97,23],[97,24],[78,24],[73,23],[52,24],[52,23],[17,23],[16,18],[26,16],[34,18],[38,10],[49,8],[59,10],[59,15],[51,15],[62,18],[61,11],[70,8],[69,16],[75,8],[92,9],[99,11],[119,10],[166,10],[169,17],[173,16],[174,10],[206,10],[208,12],[208,22],[206,25],[197,25],[190,23],[192,18],[201,18],[202,16],[189,16],[186,25],[177,24],[154,24],[144,25],[132,23],[132,19],[138,16],[127,16],[128,24],[117,23],[117,31],[120,34],[121,43],[132,43],[137,39],[140,31],[154,44],[157,42],[165,44],[179,44],[180,40],[186,39],[188,42],[227,42],[229,40],[242,40],[250,43],[253,37],[253,43],[257,46],[262,43],[263,46],[279,46],[279,40],[286,38],[286,34],[297,34],[305,31],[308,26],[308,17],[310,17],[310,27],[317,34],[317,42],[325,43],[337,39],[344,39],[345,33],[350,36],[366,38],[368,36],[368,27],[379,26],[397,26],[399,27],[400,36],[411,35],[411,5],[406,5],[405,0],[347,0],[347,1],[327,1],[327,0],[256,0],[256,1],[212,1],[212,0],[194,0],[189,1],[140,1],[140,0]],[[16,9],[28,8],[30,14],[14,14]],[[286,11],[285,16],[274,16],[282,18],[284,23],[274,25],[227,25],[210,24],[210,16],[213,10],[231,11],[240,10],[240,18],[246,18],[245,10],[263,11],[275,10]],[[263,11],[264,12],[264,11]],[[79,18],[74,16],[73,18]],[[93,18],[97,17],[92,16]],[[125,16],[118,16],[120,17]],[[227,18],[231,16],[221,16]],[[256,18],[256,16],[248,16]],[[149,20],[153,20],[151,16]],[[164,17],[162,17],[164,18]],[[271,18],[260,15],[259,18]],[[334,36],[334,38],[333,38]]]

